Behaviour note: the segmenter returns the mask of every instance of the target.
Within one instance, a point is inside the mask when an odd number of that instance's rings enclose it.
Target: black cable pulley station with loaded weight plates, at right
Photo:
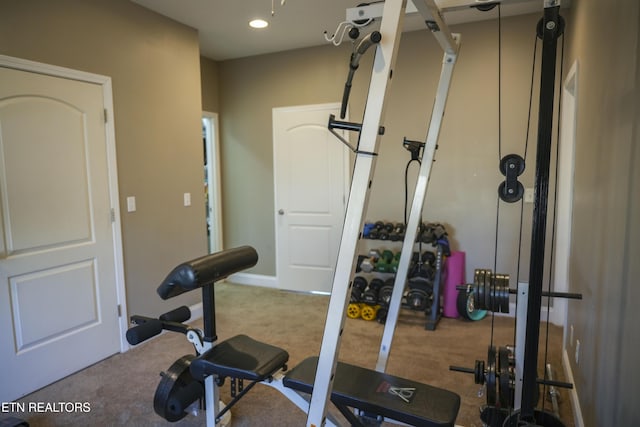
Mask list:
[[[559,0],[545,0],[544,14],[536,28],[536,36],[542,40],[542,67],[529,283],[520,283],[517,289],[510,289],[509,275],[478,269],[474,283],[461,287],[471,292],[478,308],[492,312],[508,313],[509,295],[517,295],[515,347],[496,349],[491,343],[486,363],[477,360],[473,369],[451,367],[474,374],[475,382],[485,387],[487,404],[482,408],[481,419],[489,427],[562,427],[564,424],[557,415],[545,411],[544,406],[542,410],[536,409],[540,398],[539,384],[553,387],[554,393],[555,387],[572,387],[572,384],[549,378],[546,374],[548,365],[545,366],[545,378],[538,378],[537,373],[542,297],[582,298],[580,294],[543,291],[557,44],[564,32],[564,20],[559,12]],[[507,203],[520,201],[524,188],[518,182],[518,176],[524,171],[524,159],[509,154],[501,159],[500,171],[505,181],[498,187],[499,198]]]

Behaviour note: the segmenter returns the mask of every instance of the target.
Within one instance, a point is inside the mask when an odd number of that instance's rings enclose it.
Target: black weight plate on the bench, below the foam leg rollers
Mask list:
[[[187,415],[184,411],[177,413],[177,411],[172,410],[171,405],[169,405],[169,399],[175,396],[182,388],[196,381],[189,372],[189,366],[191,366],[191,361],[194,358],[195,356],[192,354],[182,356],[173,362],[166,372],[160,374],[162,379],[153,396],[153,409],[156,414],[169,422],[179,421]]]

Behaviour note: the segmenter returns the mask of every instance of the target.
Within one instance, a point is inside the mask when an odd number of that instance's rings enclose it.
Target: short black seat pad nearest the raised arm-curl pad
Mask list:
[[[246,335],[236,335],[217,344],[191,362],[191,375],[203,380],[209,375],[263,381],[283,369],[289,360],[285,350]]]

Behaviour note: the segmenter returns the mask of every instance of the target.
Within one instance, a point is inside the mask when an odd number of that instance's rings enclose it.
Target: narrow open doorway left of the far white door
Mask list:
[[[222,250],[219,140],[218,114],[203,111],[202,143],[204,148],[204,194],[209,253]]]

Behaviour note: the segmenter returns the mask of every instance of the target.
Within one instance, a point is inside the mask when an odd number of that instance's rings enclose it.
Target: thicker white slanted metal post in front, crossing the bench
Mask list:
[[[349,303],[351,276],[355,270],[354,260],[366,206],[369,201],[371,180],[375,170],[376,156],[364,152],[377,152],[378,130],[384,118],[384,102],[392,70],[395,66],[405,7],[406,0],[387,0],[384,3],[383,17],[380,24],[382,40],[376,48],[373,63],[369,95],[360,133],[360,150],[356,153],[349,201],[333,276],[331,299],[329,300],[318,368],[316,369],[309,415],[307,417],[307,427],[324,425],[327,404],[333,389],[333,379],[340,351],[345,314]]]

